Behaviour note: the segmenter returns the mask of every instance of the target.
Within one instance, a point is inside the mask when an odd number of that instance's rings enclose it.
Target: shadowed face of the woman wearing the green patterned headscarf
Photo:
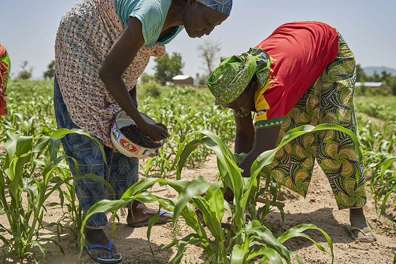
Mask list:
[[[238,96],[237,99],[229,104],[223,105],[226,108],[231,108],[234,112],[245,115],[254,108],[254,95],[257,90],[256,82],[250,82],[247,88]]]

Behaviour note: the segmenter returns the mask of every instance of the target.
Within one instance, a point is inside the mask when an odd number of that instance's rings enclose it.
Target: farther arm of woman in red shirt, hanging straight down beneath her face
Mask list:
[[[253,147],[254,142],[254,128],[251,124],[251,113],[247,116],[234,116],[235,124],[237,125],[237,132],[235,134],[235,153],[249,153]],[[242,125],[242,126],[241,126]],[[244,129],[245,128],[245,129]]]

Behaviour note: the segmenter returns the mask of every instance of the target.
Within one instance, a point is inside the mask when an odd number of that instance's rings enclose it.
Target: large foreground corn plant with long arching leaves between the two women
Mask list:
[[[320,250],[327,252],[321,245],[311,239],[307,234],[302,233],[307,229],[316,229],[323,233],[330,248],[330,256],[334,259],[333,244],[331,238],[322,229],[314,224],[300,224],[290,228],[278,238],[262,223],[254,219],[257,214],[252,215],[252,220],[247,220],[246,210],[248,207],[255,207],[256,192],[260,182],[260,171],[272,162],[275,153],[290,140],[307,132],[319,130],[333,129],[349,134],[357,144],[357,137],[350,131],[331,124],[313,126],[302,126],[285,134],[283,140],[277,148],[262,153],[251,167],[251,176],[242,177],[241,170],[237,166],[235,156],[231,153],[225,142],[212,132],[195,132],[181,144],[176,155],[177,161],[177,180],[169,181],[166,179],[146,178],[135,185],[131,186],[121,197],[120,200],[109,201],[103,200],[96,203],[87,212],[87,216],[83,221],[81,232],[81,250],[85,242],[84,226],[88,218],[94,213],[116,211],[133,200],[139,200],[145,203],[158,202],[160,207],[168,211],[173,211],[173,220],[176,222],[179,217],[183,217],[186,224],[189,225],[194,232],[180,240],[174,240],[163,249],[178,245],[178,251],[170,264],[178,264],[181,262],[183,253],[188,244],[199,243],[207,254],[206,263],[209,264],[247,264],[253,258],[260,257],[260,263],[271,261],[272,263],[281,264],[282,261],[291,263],[294,257],[299,264],[302,261],[297,254],[288,250],[283,243],[292,237],[304,237],[311,240]],[[205,137],[194,139],[187,143],[195,134],[203,134]],[[201,177],[197,177],[193,181],[180,179],[182,168],[188,159],[189,154],[198,146],[204,145],[213,150],[217,155],[217,164],[219,168],[219,181],[209,183]],[[356,147],[356,151],[361,157],[361,152]],[[268,170],[267,170],[268,171]],[[267,180],[269,180],[269,172],[267,172]],[[163,199],[156,197],[146,191],[154,183],[167,184],[174,188],[179,197],[177,200]],[[224,200],[221,187],[230,187],[234,193],[234,201],[232,207]],[[203,196],[199,194],[204,193]],[[208,230],[215,237],[215,241],[210,241],[204,227],[198,220],[194,209],[189,205],[195,206],[202,214],[203,221]],[[232,232],[222,227],[222,218],[224,210],[230,212],[233,223]],[[157,213],[148,223],[148,239],[150,236],[151,226],[157,221],[159,213]],[[113,229],[114,232],[114,229]]]

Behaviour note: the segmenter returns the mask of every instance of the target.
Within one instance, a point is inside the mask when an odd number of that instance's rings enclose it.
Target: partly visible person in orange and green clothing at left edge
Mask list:
[[[11,68],[11,62],[7,50],[3,45],[0,44],[0,116],[7,114],[7,104],[5,103],[5,93],[7,89],[9,69]]]

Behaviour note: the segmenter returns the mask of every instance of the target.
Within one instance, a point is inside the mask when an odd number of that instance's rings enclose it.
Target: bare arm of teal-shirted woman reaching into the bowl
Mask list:
[[[136,125],[152,139],[161,140],[169,134],[159,126],[148,124],[141,117],[121,77],[144,42],[142,23],[136,17],[131,17],[104,59],[99,77],[115,101],[135,121]]]

